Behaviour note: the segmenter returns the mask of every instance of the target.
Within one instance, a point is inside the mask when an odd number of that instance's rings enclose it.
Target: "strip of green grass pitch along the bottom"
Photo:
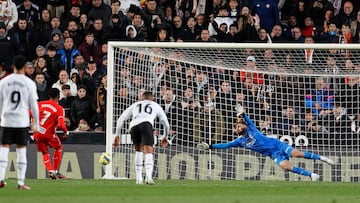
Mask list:
[[[282,181],[156,180],[135,185],[134,180],[27,179],[30,191],[7,180],[1,203],[352,203],[360,202],[358,183]]]

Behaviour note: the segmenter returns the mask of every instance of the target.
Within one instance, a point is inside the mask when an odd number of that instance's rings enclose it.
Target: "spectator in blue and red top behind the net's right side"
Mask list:
[[[334,92],[329,90],[323,78],[316,79],[316,87],[306,95],[305,107],[311,109],[315,115],[322,110],[331,110],[334,103]]]

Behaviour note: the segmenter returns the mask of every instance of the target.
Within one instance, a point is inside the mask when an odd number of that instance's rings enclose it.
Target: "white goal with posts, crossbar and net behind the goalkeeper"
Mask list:
[[[196,148],[236,138],[240,103],[265,135],[336,162],[291,158],[293,165],[321,181],[359,181],[359,54],[355,44],[109,42],[106,149],[113,161],[104,177],[135,179],[128,126],[113,147],[115,126],[143,91],[152,91],[172,140],[160,147],[155,122],[156,179],[310,180],[246,149]]]

